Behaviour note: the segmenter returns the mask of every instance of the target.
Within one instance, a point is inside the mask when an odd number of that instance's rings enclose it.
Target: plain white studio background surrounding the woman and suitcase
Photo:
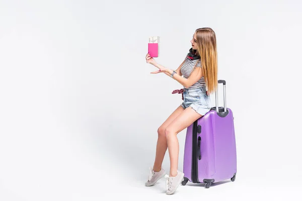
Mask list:
[[[300,199],[301,9],[288,0],[0,1],[0,200]],[[176,69],[202,27],[216,33],[237,178],[168,196],[164,179],[144,182],[182,85],[149,73],[148,37],[160,36],[156,61]],[[167,152],[168,174],[169,165]]]

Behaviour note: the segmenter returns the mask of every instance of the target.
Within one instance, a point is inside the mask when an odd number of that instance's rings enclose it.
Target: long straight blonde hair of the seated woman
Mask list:
[[[217,89],[216,35],[211,28],[196,29],[197,55],[200,55],[202,72],[208,93]]]

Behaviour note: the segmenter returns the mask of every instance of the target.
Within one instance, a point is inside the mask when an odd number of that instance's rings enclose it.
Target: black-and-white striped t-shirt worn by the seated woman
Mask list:
[[[184,64],[181,66],[180,68],[180,72],[181,74],[184,76],[184,78],[188,79],[188,77],[190,76],[195,64],[197,63],[196,67],[202,67],[201,66],[201,61],[200,59],[196,59],[196,60],[191,60],[188,57],[186,57],[186,60],[184,62]],[[189,88],[200,88],[200,87],[205,87],[205,81],[204,81],[204,77],[202,76],[196,83],[194,83],[192,86],[190,86]]]

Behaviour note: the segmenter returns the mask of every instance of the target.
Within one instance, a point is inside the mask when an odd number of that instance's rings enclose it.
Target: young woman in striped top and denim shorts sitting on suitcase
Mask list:
[[[197,29],[191,44],[192,48],[185,60],[175,71],[158,64],[149,53],[145,57],[147,63],[159,68],[151,73],[163,72],[184,86],[178,91],[183,93],[184,102],[158,129],[155,162],[153,168],[150,167],[145,183],[146,186],[152,186],[166,174],[162,163],[168,148],[170,176],[166,181],[167,194],[174,193],[184,177],[184,173],[178,170],[179,143],[176,135],[209,112],[209,94],[217,89],[215,32],[211,28]]]

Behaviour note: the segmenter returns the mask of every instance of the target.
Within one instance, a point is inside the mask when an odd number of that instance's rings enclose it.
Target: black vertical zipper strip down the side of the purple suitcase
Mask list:
[[[193,133],[192,133],[192,168],[191,168],[191,178],[193,183],[199,183],[198,180],[198,157],[200,153],[200,144],[197,143],[197,126],[198,120],[193,123]],[[200,138],[201,140],[201,138]],[[198,146],[199,145],[199,146]],[[198,151],[199,149],[199,151]]]

